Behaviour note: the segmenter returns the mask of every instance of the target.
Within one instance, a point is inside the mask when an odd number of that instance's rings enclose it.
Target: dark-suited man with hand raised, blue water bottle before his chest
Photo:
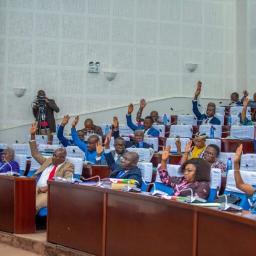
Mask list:
[[[119,123],[116,116],[113,117],[113,137],[119,137]],[[120,137],[119,137],[120,138]],[[136,130],[134,133],[134,141],[125,141],[125,148],[139,148],[139,142],[144,140],[144,133],[142,130]],[[153,145],[143,142],[143,149],[150,149],[154,153]]]

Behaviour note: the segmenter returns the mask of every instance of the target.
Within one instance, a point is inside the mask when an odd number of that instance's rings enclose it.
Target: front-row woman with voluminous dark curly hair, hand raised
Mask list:
[[[210,194],[210,170],[211,166],[201,158],[187,160],[181,167],[183,177],[171,177],[167,171],[167,159],[170,156],[171,146],[168,145],[162,154],[161,166],[158,169],[161,181],[172,187],[175,196],[191,195],[190,191],[182,191],[191,188],[194,196],[207,199]]]

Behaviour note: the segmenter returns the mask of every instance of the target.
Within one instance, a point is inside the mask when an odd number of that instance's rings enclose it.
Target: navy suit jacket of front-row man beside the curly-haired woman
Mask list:
[[[120,165],[115,163],[111,152],[105,154],[105,159],[106,159],[107,165],[109,166],[110,170],[112,171],[109,178],[115,178],[118,175],[118,173],[120,171],[122,171],[123,169],[121,168]],[[137,187],[140,188],[142,186],[142,173],[138,167],[135,167],[135,168],[129,170],[128,172],[123,174],[120,178],[121,179],[137,180],[139,182]]]

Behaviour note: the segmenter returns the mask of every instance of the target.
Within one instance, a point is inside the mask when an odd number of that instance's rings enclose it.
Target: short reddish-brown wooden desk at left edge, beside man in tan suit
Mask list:
[[[0,175],[0,230],[35,233],[36,178]]]

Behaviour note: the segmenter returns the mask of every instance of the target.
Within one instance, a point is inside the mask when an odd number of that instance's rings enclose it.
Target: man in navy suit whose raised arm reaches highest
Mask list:
[[[195,92],[194,100],[192,101],[193,103],[193,113],[195,114],[198,124],[220,124],[220,120],[214,116],[215,114],[215,107],[213,107],[213,102],[209,102],[207,105],[207,110],[206,114],[201,114],[200,111],[198,110],[197,106],[197,98],[198,95],[201,92],[202,88],[202,82],[198,81],[197,82],[197,89]],[[214,104],[215,105],[215,104]]]

